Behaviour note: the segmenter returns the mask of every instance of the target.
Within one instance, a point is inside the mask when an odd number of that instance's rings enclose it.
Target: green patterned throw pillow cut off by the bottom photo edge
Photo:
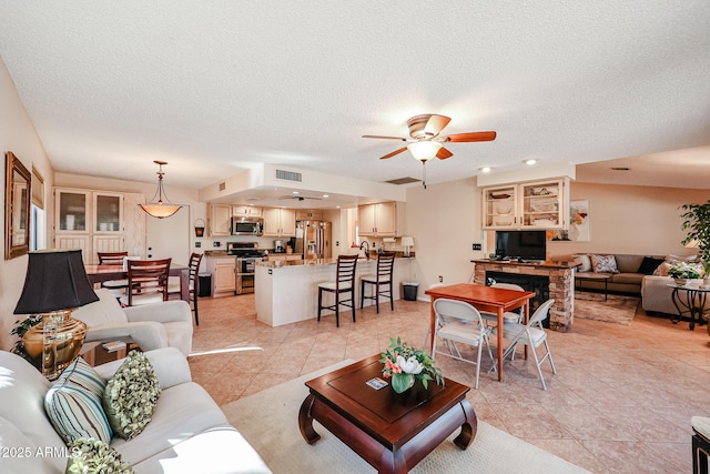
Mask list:
[[[69,445],[65,474],[132,474],[129,463],[106,443],[92,437],[80,437]]]

